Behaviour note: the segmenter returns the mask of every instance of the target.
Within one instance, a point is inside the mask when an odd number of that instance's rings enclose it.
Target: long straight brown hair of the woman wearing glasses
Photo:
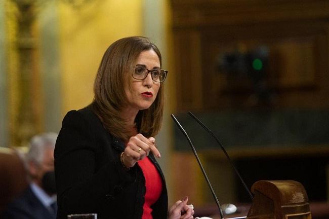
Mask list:
[[[104,127],[115,137],[127,141],[133,135],[133,127],[121,117],[127,103],[124,86],[131,86],[132,72],[142,51],[154,50],[160,60],[158,48],[142,36],[122,38],[109,46],[104,53],[94,83],[93,112]],[[145,137],[155,136],[161,127],[163,113],[163,84],[148,109],[138,112],[135,122],[137,131]]]

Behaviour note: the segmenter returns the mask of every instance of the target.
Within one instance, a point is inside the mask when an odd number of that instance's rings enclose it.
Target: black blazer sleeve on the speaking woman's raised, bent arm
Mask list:
[[[136,180],[119,159],[109,158],[96,170],[101,146],[96,144],[94,132],[78,111],[70,111],[63,119],[54,152],[58,208],[63,215],[98,212],[108,197],[117,195],[117,188],[122,190]]]

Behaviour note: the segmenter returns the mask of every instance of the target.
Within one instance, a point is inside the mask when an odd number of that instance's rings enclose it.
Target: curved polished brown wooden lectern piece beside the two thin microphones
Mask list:
[[[311,219],[306,191],[294,180],[257,181],[247,219]]]

